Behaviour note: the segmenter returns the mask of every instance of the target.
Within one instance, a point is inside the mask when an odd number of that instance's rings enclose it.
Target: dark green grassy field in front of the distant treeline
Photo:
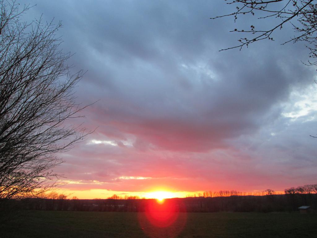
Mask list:
[[[0,227],[0,237],[317,237],[317,215],[180,213],[159,228],[145,213],[32,211]]]

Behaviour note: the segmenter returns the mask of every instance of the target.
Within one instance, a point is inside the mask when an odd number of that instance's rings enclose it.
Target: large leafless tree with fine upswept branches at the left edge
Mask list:
[[[83,72],[70,72],[56,31],[34,20],[23,23],[15,1],[0,1],[0,203],[43,194],[56,183],[56,153],[68,151],[88,134],[73,118],[86,106],[73,89]]]

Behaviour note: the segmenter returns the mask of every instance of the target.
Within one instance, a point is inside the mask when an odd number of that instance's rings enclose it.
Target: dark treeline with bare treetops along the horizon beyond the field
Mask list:
[[[285,189],[285,194],[277,194],[267,189],[256,195],[245,195],[235,190],[204,192],[186,198],[165,199],[165,208],[179,212],[292,212],[300,206],[310,206],[317,210],[317,184]],[[67,196],[51,192],[42,197],[25,196],[22,199],[0,199],[6,203],[5,208],[21,208],[28,210],[63,210],[63,211],[116,211],[144,212],[155,207],[155,199],[140,199],[138,196],[113,195],[108,199],[66,199]]]

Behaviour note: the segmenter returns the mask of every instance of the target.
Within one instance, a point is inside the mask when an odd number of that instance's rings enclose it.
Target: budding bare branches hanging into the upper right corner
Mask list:
[[[227,1],[227,0],[225,0]],[[239,43],[236,46],[228,47],[222,50],[229,50],[243,46],[248,47],[249,44],[256,41],[273,39],[273,33],[276,30],[281,30],[285,24],[291,24],[294,29],[294,36],[282,44],[288,42],[304,41],[307,43],[307,48],[310,50],[309,57],[317,57],[317,1],[316,0],[231,0],[229,5],[235,5],[235,10],[230,14],[225,14],[211,19],[220,17],[234,18],[236,22],[238,16],[251,14],[258,16],[268,23],[269,19],[277,19],[276,24],[269,26],[266,29],[258,29],[255,23],[247,26],[247,29],[233,29],[230,32],[243,32],[248,37],[238,39]],[[269,24],[268,24],[269,25]],[[309,65],[317,65],[317,61],[308,61]]]

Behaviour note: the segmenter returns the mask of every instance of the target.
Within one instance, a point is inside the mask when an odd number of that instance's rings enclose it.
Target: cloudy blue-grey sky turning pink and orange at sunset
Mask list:
[[[62,21],[62,49],[74,89],[95,132],[60,155],[55,169],[79,198],[181,197],[199,191],[243,192],[317,182],[316,68],[303,43],[234,46],[234,28],[272,20],[243,16],[215,1],[28,1],[27,20]],[[24,3],[24,2],[23,2]],[[21,4],[23,4],[21,3]],[[243,36],[244,37],[244,36]]]

